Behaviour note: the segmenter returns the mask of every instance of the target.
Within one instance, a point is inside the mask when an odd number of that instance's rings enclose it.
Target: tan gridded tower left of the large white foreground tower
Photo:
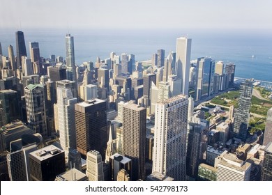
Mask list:
[[[146,109],[123,105],[123,155],[132,159],[133,181],[145,179]]]

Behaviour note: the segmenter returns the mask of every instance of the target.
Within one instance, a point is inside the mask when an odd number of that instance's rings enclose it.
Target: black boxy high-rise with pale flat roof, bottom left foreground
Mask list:
[[[66,171],[64,151],[50,145],[29,153],[31,181],[54,181]]]

